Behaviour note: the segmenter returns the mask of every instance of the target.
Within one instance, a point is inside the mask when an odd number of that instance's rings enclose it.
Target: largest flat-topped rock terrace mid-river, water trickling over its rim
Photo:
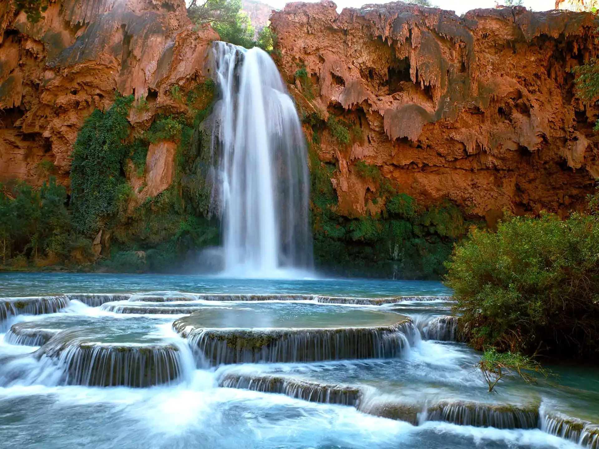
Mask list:
[[[173,330],[211,365],[392,358],[419,338],[412,320],[396,313],[267,307],[205,308],[174,321]]]

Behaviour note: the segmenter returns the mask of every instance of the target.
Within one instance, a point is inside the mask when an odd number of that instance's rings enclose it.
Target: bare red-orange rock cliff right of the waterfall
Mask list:
[[[338,14],[324,1],[288,4],[271,24],[304,113],[362,129],[347,147],[325,129],[317,149],[337,167],[338,213],[383,207],[358,160],[420,201],[449,198],[490,223],[503,210],[567,213],[593,190],[598,111],[576,98],[570,72],[597,54],[591,14],[510,7],[458,17],[402,2]],[[295,79],[304,66],[310,95]]]

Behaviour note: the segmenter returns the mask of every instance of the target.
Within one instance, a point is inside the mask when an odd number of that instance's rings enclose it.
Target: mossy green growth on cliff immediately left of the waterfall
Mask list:
[[[196,84],[184,95],[188,114],[156,116],[150,128],[129,145],[127,154],[137,167],[140,162],[135,162],[135,155],[145,154],[143,148],[150,143],[176,142],[174,179],[168,189],[117,216],[110,226],[110,259],[102,262],[105,267],[173,271],[183,265],[190,251],[219,243],[219,224],[208,218],[210,135],[201,126],[210,114],[213,95],[212,81]]]

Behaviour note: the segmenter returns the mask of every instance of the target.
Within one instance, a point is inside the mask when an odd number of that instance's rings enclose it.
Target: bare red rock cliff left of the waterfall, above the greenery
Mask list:
[[[193,28],[184,0],[50,0],[32,25],[0,2],[0,181],[38,183],[38,163],[68,183],[69,154],[84,119],[116,91],[146,99],[134,126],[182,105],[166,95],[201,77],[208,26]],[[162,186],[164,189],[165,186]]]

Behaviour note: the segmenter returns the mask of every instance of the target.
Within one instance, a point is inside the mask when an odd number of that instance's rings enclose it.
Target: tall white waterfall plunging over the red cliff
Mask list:
[[[215,42],[213,203],[225,272],[277,277],[310,269],[307,152],[295,105],[265,51]]]

